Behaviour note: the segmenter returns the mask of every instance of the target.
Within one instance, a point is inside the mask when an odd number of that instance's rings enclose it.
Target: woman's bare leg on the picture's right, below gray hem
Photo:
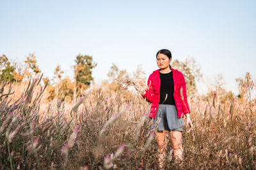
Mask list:
[[[182,132],[170,131],[170,139],[173,146],[173,157],[175,160],[182,161],[183,147],[182,147]]]

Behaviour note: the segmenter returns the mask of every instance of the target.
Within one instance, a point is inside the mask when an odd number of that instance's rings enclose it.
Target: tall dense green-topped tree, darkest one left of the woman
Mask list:
[[[74,66],[75,71],[75,81],[76,81],[76,90],[75,92],[81,94],[83,89],[86,89],[92,78],[92,69],[97,66],[92,60],[92,56],[89,55],[77,55],[76,57],[76,66]],[[75,95],[76,97],[76,95]]]

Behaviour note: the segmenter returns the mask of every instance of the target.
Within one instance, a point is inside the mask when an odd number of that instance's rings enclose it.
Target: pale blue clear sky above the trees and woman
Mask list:
[[[76,56],[91,55],[100,82],[114,63],[129,73],[158,69],[157,51],[194,57],[213,81],[237,93],[236,78],[256,77],[256,1],[0,1],[0,55],[23,62],[35,53],[45,76],[60,64],[72,75]],[[205,88],[201,84],[199,91]]]

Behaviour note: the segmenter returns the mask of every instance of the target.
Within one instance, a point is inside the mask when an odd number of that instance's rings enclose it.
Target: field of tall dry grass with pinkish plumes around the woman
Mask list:
[[[139,94],[87,90],[48,103],[40,80],[0,86],[0,169],[157,169],[150,104]],[[168,143],[164,169],[256,169],[255,106],[238,99],[189,100],[182,167]]]

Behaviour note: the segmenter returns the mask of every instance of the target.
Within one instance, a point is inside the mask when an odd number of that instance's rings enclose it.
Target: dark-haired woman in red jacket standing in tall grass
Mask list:
[[[186,82],[180,71],[172,69],[172,53],[163,49],[156,54],[157,69],[148,78],[148,88],[143,90],[140,85],[135,85],[136,90],[151,104],[150,115],[152,118],[151,129],[158,129],[156,140],[159,145],[159,166],[163,167],[166,148],[166,132],[169,133],[173,146],[173,156],[176,160],[182,160],[182,131],[183,117],[186,115],[186,126],[193,124],[189,117],[189,106],[186,95]]]

